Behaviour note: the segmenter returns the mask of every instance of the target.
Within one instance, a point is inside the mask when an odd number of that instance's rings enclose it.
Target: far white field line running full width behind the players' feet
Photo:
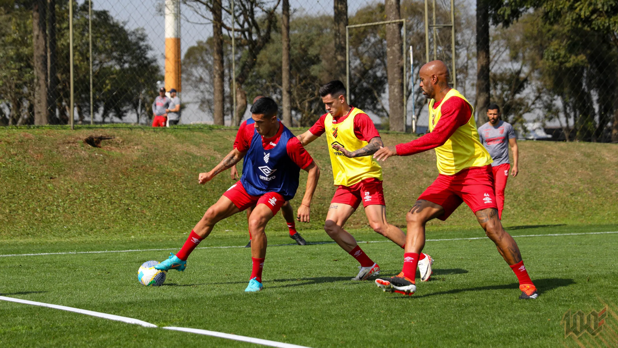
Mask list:
[[[551,236],[573,236],[573,235],[603,235],[609,233],[618,233],[618,231],[612,232],[583,232],[583,233],[551,233],[544,235],[519,235],[512,236],[513,238],[520,237],[551,237]],[[449,240],[475,240],[486,239],[487,237],[472,237],[472,238],[444,238],[444,239],[427,239],[426,241],[449,241]],[[370,241],[358,241],[359,243],[389,243],[390,240],[370,240]],[[334,241],[318,241],[315,243],[307,243],[307,245],[318,244],[334,244]],[[269,246],[287,246],[296,245],[296,243],[289,244],[273,244]],[[226,248],[244,248],[244,246],[203,246],[196,249],[226,249]],[[102,253],[130,253],[132,251],[160,251],[160,250],[178,250],[178,248],[161,248],[161,249],[129,249],[129,250],[99,250],[99,251],[66,251],[63,253],[35,253],[35,254],[0,254],[0,257],[7,256],[39,256],[39,255],[66,255],[66,254],[102,254]]]

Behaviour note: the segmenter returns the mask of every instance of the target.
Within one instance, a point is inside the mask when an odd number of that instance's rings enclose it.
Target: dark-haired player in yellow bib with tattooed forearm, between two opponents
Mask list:
[[[375,232],[402,248],[405,234],[386,221],[382,168],[371,157],[383,144],[373,121],[362,110],[348,105],[345,86],[341,81],[328,82],[319,92],[328,112],[307,132],[300,134],[298,140],[306,146],[326,133],[337,190],[326,215],[324,230],[360,263],[358,274],[352,280],[364,281],[379,274],[380,268],[358,246],[355,238],[344,230],[345,222],[360,202],[363,202],[365,215]],[[431,276],[432,262],[430,256],[425,256],[418,264],[421,280],[426,281]]]

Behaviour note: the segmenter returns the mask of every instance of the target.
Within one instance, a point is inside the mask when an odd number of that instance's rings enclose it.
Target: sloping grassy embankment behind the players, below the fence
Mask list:
[[[298,133],[300,131],[295,131]],[[101,148],[89,135],[111,135]],[[197,175],[210,170],[231,149],[233,129],[9,129],[0,132],[0,243],[48,250],[72,241],[88,248],[177,241],[234,181],[222,173],[206,185]],[[413,139],[383,134],[386,144]],[[322,169],[310,224],[298,224],[309,240],[326,240],[321,230],[334,192],[326,141],[307,147]],[[503,223],[612,225],[618,216],[618,147],[612,144],[520,142],[520,175],[509,178]],[[405,225],[405,212],[437,175],[433,151],[384,163],[389,220]],[[297,199],[302,196],[302,172]],[[362,209],[347,225],[359,239],[378,238]],[[548,226],[551,227],[551,226]],[[581,226],[582,228],[584,226]],[[610,228],[607,226],[607,228]],[[577,228],[576,228],[577,229]],[[601,227],[603,230],[603,227]],[[289,242],[281,215],[268,227],[271,242]],[[221,222],[209,244],[239,244],[247,238],[243,214]],[[459,232],[459,233],[454,233]],[[447,222],[430,222],[428,237],[482,235],[462,205]],[[103,244],[101,244],[103,243]],[[97,248],[98,248],[97,247]]]

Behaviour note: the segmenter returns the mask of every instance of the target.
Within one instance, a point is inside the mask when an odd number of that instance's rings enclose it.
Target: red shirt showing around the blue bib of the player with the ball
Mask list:
[[[277,146],[277,144],[279,144],[281,133],[283,133],[283,127],[283,124],[279,121],[279,131],[277,131],[277,134],[269,138],[262,136],[262,146],[265,150],[273,149]],[[249,146],[251,146],[253,134],[255,134],[255,129],[251,126],[247,126],[247,121],[244,121],[240,124],[238,133],[236,133],[234,147],[240,152],[247,152],[249,150]],[[297,137],[291,137],[287,141],[286,150],[290,159],[301,169],[305,169],[313,163],[313,158],[311,158],[309,152],[307,152],[307,150],[305,150],[305,148],[300,144]]]

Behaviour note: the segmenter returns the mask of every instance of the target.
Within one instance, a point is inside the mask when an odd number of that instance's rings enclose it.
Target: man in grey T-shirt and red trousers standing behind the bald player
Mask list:
[[[510,175],[517,176],[519,172],[517,162],[519,160],[519,149],[517,149],[517,139],[515,129],[510,123],[500,120],[500,108],[496,104],[491,104],[487,108],[489,122],[478,128],[478,136],[483,146],[489,151],[494,162],[491,169],[494,172],[494,190],[496,203],[498,205],[498,217],[502,219],[502,209],[504,208],[504,188]],[[513,168],[509,162],[509,145],[513,150]]]

